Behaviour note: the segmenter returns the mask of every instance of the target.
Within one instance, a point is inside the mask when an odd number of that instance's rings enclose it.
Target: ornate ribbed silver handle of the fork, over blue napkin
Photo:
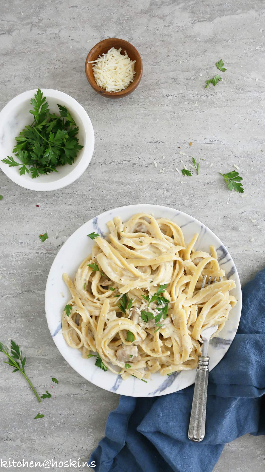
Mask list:
[[[208,375],[209,357],[200,356],[196,370],[188,433],[189,439],[195,442],[202,441],[205,436]]]

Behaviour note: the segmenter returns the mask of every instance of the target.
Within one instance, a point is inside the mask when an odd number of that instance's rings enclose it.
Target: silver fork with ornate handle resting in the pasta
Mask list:
[[[207,276],[203,278],[201,288],[205,287]],[[219,277],[218,282],[221,281]],[[216,277],[213,280],[213,284],[216,282]],[[207,285],[211,283],[211,276]],[[208,345],[210,337],[217,331],[218,324],[210,326],[204,329],[201,333],[203,345],[202,353],[199,356],[198,367],[196,370],[194,393],[192,399],[192,407],[190,413],[190,426],[188,437],[191,441],[200,442],[205,436],[205,417],[206,417],[206,404],[207,404],[207,386],[208,386],[208,375],[209,375],[209,357]]]

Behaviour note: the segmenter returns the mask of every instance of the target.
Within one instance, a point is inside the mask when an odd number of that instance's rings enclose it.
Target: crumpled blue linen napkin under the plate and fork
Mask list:
[[[237,334],[209,374],[203,441],[187,436],[193,385],[155,398],[121,396],[90,458],[96,472],[211,472],[225,443],[265,434],[265,270],[242,295]]]

